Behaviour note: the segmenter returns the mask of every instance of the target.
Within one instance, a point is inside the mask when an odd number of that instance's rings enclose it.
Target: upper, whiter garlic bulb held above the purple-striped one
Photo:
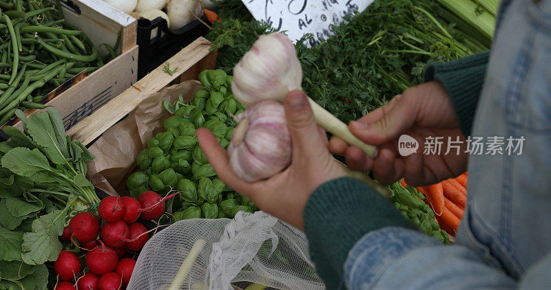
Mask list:
[[[260,35],[233,67],[231,90],[239,102],[249,105],[260,100],[282,102],[301,84],[302,67],[295,46],[287,36],[274,32]]]

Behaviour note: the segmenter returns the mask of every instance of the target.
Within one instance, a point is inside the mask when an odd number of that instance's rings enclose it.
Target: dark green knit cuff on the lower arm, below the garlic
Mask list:
[[[350,177],[322,184],[303,216],[310,257],[327,289],[337,289],[346,256],[362,236],[382,227],[415,228],[388,199]]]

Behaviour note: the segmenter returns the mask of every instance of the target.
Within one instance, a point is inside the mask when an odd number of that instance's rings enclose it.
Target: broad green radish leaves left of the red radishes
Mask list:
[[[46,289],[65,223],[99,202],[85,178],[94,155],[65,136],[59,111],[16,114],[23,131],[6,126],[0,143],[0,289]]]

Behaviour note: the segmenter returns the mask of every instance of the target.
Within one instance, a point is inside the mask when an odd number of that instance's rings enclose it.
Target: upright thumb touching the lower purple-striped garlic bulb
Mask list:
[[[315,118],[303,91],[291,91],[284,98],[285,117],[293,140],[293,157],[301,155],[320,155],[327,146],[322,140],[315,124]]]

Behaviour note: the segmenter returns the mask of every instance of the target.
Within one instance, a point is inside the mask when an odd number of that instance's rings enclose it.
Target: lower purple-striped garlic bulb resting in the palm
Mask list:
[[[236,116],[228,146],[229,167],[245,181],[271,177],[291,163],[291,134],[283,105],[263,101]]]

